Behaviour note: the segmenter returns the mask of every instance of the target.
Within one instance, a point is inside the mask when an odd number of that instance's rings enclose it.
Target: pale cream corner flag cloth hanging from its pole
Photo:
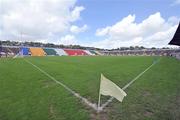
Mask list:
[[[127,95],[115,83],[104,77],[103,74],[101,74],[100,94],[112,96],[120,102],[122,102],[123,98]]]

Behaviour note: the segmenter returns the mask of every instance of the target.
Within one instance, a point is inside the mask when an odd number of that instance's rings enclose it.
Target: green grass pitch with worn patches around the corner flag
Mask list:
[[[51,76],[97,103],[100,74],[121,88],[154,57],[27,57]],[[128,89],[96,114],[22,58],[0,59],[0,120],[176,120],[180,118],[180,61],[162,57]],[[105,102],[109,97],[103,97]]]

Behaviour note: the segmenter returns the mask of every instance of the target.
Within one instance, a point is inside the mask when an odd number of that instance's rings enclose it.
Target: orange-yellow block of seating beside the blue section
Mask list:
[[[45,56],[46,53],[42,48],[30,48],[31,56]]]

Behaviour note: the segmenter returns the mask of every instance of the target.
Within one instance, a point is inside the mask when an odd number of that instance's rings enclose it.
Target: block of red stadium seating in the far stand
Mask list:
[[[80,55],[88,55],[86,52],[83,50],[73,50],[73,49],[64,49],[64,51],[69,55],[69,56],[80,56]]]

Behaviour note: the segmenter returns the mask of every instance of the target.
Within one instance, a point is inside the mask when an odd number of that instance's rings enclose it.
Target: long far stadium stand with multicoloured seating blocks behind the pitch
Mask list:
[[[83,55],[110,55],[110,56],[172,56],[180,59],[180,49],[143,49],[143,50],[81,50],[81,49],[58,49],[36,48],[19,46],[0,46],[0,57],[17,56],[83,56]]]

